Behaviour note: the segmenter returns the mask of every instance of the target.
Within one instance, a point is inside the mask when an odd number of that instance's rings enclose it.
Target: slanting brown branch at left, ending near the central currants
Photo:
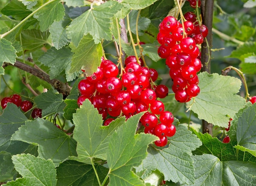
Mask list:
[[[4,65],[3,67],[6,67],[6,66],[10,66],[12,64],[10,63],[6,63],[4,62]],[[69,94],[70,94],[70,91],[71,91],[71,88],[67,83],[63,83],[63,82],[60,82],[59,80],[56,80],[56,79],[50,79],[50,76],[45,73],[45,72],[42,72],[38,69],[35,69],[34,67],[32,66],[29,66],[25,63],[22,63],[20,61],[16,61],[13,66],[17,67],[18,69],[21,69],[23,71],[26,71],[38,78],[40,78],[41,80],[44,80],[46,82],[48,82],[49,84],[51,84],[54,89],[56,89],[59,93],[62,93],[63,94],[63,99],[65,99]]]

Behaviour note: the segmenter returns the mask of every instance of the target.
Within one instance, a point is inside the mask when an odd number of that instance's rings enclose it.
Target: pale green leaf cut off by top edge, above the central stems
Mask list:
[[[139,10],[144,9],[157,0],[123,0],[121,3],[125,4],[129,9]]]

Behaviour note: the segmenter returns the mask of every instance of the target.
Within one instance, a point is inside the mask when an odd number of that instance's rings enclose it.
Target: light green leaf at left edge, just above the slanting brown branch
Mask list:
[[[8,62],[14,64],[16,62],[16,50],[11,45],[11,42],[7,41],[6,39],[0,38],[0,66],[4,64],[4,62]],[[3,74],[3,73],[1,73]]]

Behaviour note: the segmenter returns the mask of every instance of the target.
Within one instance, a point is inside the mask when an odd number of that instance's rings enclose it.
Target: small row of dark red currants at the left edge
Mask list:
[[[10,97],[4,97],[1,100],[2,109],[6,108],[8,102],[16,104],[16,106],[18,107],[20,106],[21,110],[24,112],[29,111],[33,106],[33,104],[28,100],[22,101],[20,95],[18,94],[13,94]],[[33,109],[31,112],[31,117],[33,118],[42,117],[42,110],[38,108]]]

